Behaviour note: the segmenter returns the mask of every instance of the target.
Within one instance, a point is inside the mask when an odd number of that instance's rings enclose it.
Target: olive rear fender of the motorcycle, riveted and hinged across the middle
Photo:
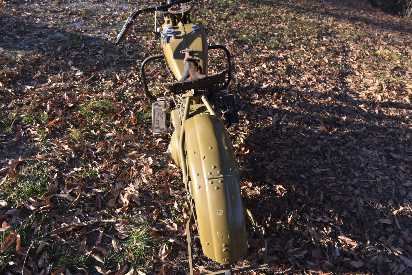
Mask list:
[[[198,114],[185,121],[189,192],[203,253],[228,264],[247,249],[243,203],[232,143],[222,121]]]

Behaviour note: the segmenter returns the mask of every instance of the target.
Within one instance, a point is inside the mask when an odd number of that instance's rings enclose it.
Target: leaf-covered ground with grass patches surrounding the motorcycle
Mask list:
[[[1,274],[189,273],[171,132],[151,134],[140,80],[154,15],[114,45],[155,4],[0,1]],[[229,135],[269,254],[257,273],[410,274],[410,20],[354,0],[205,0],[192,19],[231,51]],[[162,92],[165,64],[147,69]]]

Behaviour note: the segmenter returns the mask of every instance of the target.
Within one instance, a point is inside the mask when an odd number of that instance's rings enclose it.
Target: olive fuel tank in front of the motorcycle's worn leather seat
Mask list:
[[[180,51],[193,50],[193,56],[200,59],[198,64],[202,73],[207,75],[208,44],[206,34],[200,24],[170,24],[171,19],[162,25],[162,49],[174,76],[180,80],[184,71],[185,55]]]

